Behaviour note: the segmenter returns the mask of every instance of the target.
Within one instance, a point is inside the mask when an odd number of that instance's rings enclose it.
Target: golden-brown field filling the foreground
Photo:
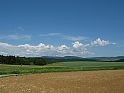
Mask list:
[[[0,93],[124,93],[124,70],[4,77]]]

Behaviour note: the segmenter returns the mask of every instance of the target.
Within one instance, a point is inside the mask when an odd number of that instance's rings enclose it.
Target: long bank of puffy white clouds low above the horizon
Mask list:
[[[20,44],[12,45],[0,42],[0,54],[16,55],[16,56],[86,56],[92,55],[89,47],[106,46],[112,44],[110,41],[97,38],[91,44],[83,44],[79,41],[73,42],[70,46],[67,45],[49,45],[40,43],[38,45]]]

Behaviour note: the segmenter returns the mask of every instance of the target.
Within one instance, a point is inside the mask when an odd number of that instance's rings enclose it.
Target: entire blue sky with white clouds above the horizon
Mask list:
[[[123,0],[0,0],[0,54],[123,56]]]

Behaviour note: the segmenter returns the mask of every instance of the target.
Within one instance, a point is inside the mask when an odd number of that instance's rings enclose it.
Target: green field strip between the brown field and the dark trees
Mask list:
[[[4,74],[27,74],[27,73],[48,73],[48,72],[70,72],[89,70],[115,70],[124,69],[124,62],[57,62],[45,66],[34,65],[3,65],[0,64],[0,75]]]

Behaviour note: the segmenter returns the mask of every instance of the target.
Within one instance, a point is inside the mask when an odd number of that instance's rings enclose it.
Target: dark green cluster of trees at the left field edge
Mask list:
[[[16,57],[16,56],[3,56],[0,55],[1,64],[12,65],[46,65],[47,62],[41,57]]]

